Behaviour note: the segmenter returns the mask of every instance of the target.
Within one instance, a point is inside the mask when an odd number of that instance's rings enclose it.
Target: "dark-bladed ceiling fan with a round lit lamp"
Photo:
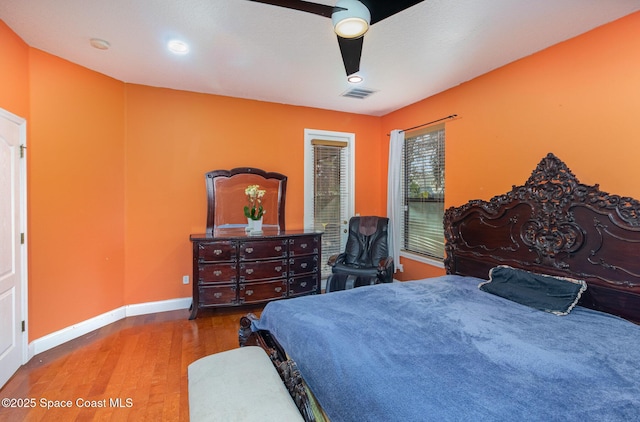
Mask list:
[[[335,6],[303,0],[249,0],[331,18],[347,76],[360,70],[364,34],[370,25],[423,0],[338,0]]]

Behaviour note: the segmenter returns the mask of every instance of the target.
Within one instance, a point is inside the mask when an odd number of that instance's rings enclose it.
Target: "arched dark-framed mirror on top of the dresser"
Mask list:
[[[258,185],[265,190],[262,197],[265,229],[285,229],[284,209],[287,176],[252,167],[213,170],[205,174],[207,185],[207,233],[219,229],[245,228],[245,205],[249,204],[245,190]]]

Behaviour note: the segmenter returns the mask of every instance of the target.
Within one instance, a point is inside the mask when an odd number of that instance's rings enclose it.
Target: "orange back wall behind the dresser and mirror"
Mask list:
[[[189,234],[205,230],[207,171],[286,174],[286,225],[301,228],[305,128],[356,134],[356,212],[386,213],[382,193],[368,188],[383,171],[377,117],[141,85],[126,92],[127,304],[191,295],[182,276],[191,275]]]

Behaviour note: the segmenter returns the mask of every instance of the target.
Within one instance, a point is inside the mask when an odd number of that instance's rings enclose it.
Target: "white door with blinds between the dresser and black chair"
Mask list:
[[[355,135],[305,129],[305,228],[321,230],[322,275],[329,256],[344,251],[354,212]]]

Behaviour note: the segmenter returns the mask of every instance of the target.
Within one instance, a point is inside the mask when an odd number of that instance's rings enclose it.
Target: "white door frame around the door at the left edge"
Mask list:
[[[18,159],[19,166],[19,195],[20,195],[20,233],[24,235],[24,242],[20,244],[20,262],[18,265],[20,266],[20,319],[24,321],[24,331],[21,333],[21,347],[22,347],[22,356],[21,363],[24,365],[29,361],[30,353],[29,353],[29,321],[27,319],[28,315],[28,250],[27,242],[28,242],[28,234],[27,234],[27,120],[17,116],[3,108],[0,108],[0,118],[7,119],[19,126],[18,130],[20,133],[19,145],[22,145],[23,155]]]

